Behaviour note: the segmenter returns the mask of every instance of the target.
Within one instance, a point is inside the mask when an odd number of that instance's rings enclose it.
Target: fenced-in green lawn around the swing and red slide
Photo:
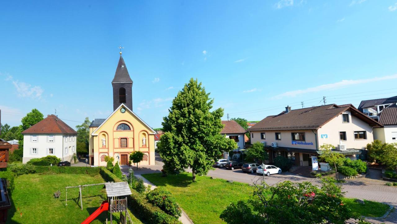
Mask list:
[[[65,187],[103,182],[105,181],[99,175],[85,174],[18,176],[15,178],[12,208],[8,211],[7,223],[80,223],[106,200],[104,185],[83,189],[83,211],[77,204],[79,188],[67,190],[67,206],[65,205]],[[61,191],[60,199],[54,199],[53,194],[57,190]],[[134,224],[142,223],[131,211],[130,215]],[[92,223],[104,223],[106,216],[106,213],[102,213]],[[114,220],[119,220],[119,214],[114,214],[113,217]]]

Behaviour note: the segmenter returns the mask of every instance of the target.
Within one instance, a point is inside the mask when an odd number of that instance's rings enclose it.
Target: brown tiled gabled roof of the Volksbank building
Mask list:
[[[350,110],[352,115],[371,126],[382,126],[374,119],[358,111],[351,104],[345,104],[343,106],[330,104],[291,110],[288,113],[283,111],[278,115],[266,117],[249,128],[249,130],[316,130],[347,110]]]

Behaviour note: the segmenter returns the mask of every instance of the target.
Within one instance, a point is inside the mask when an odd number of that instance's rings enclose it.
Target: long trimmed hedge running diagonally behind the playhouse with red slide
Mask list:
[[[116,175],[112,174],[106,167],[100,167],[100,175],[105,181],[123,182]],[[128,206],[134,210],[139,217],[148,220],[149,223],[173,224],[181,223],[177,218],[166,214],[159,207],[148,202],[145,195],[131,189],[132,194],[128,195]]]

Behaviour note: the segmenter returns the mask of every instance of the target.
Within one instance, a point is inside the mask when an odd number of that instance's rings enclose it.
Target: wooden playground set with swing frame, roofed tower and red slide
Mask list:
[[[94,211],[86,220],[81,222],[82,224],[91,223],[99,214],[106,211],[110,213],[110,224],[113,224],[113,213],[120,213],[120,222],[121,224],[127,224],[127,217],[129,223],[132,224],[131,217],[128,213],[127,207],[127,196],[131,195],[131,189],[127,182],[106,182],[99,184],[86,184],[79,186],[69,186],[66,187],[66,205],[67,205],[67,189],[69,188],[79,188],[79,199],[77,200],[77,204],[80,201],[81,210],[83,210],[83,201],[82,201],[82,189],[89,186],[97,186],[104,184],[106,188],[106,195],[108,197],[107,201],[103,201],[102,204],[96,211]],[[108,218],[106,218],[106,223],[108,223]]]

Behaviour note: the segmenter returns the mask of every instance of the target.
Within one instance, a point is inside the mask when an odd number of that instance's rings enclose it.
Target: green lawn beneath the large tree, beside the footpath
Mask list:
[[[187,213],[194,223],[224,223],[219,215],[230,202],[239,199],[249,199],[252,189],[248,184],[223,179],[210,179],[207,176],[197,176],[197,182],[192,183],[191,173],[170,175],[143,174],[156,186],[165,186],[175,197],[177,203]]]

